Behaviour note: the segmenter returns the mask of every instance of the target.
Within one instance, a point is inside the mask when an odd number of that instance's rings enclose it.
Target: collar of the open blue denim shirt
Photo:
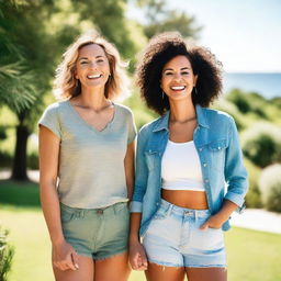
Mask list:
[[[198,116],[198,124],[202,127],[209,128],[209,124],[206,121],[205,116],[205,110],[200,106],[199,104],[195,105],[195,111],[196,111],[196,116]],[[155,128],[153,132],[158,132],[158,131],[169,131],[169,116],[170,116],[170,111],[168,111],[166,114],[164,114],[155,125]]]

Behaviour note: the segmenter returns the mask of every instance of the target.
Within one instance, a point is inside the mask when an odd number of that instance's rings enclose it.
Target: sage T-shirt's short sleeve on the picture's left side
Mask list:
[[[58,117],[58,104],[50,104],[43,113],[38,121],[38,125],[43,125],[50,130],[58,138],[61,138],[61,130]]]

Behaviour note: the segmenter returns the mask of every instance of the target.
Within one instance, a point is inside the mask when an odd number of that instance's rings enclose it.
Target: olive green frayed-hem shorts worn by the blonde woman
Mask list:
[[[60,220],[64,237],[78,255],[99,260],[127,250],[127,203],[104,209],[78,209],[60,203]]]

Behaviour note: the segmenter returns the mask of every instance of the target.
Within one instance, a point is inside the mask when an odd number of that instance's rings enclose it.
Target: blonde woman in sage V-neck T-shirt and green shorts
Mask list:
[[[132,112],[116,48],[95,33],[64,54],[56,91],[40,124],[41,202],[56,280],[127,280],[134,178]]]

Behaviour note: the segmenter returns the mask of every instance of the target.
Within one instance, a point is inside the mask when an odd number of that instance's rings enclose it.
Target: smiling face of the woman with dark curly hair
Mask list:
[[[191,98],[196,79],[189,59],[176,56],[164,66],[160,87],[169,99],[187,99]]]

